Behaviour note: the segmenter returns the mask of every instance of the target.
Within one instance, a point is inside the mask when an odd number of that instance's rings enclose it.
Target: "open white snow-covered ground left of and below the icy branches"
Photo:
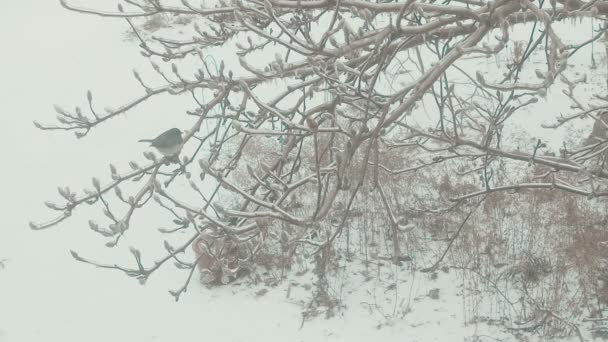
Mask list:
[[[106,248],[91,233],[88,209],[49,230],[30,230],[29,221],[49,217],[43,202],[56,198],[57,186],[89,185],[92,176],[107,174],[109,161],[124,166],[140,157],[145,146],[138,139],[182,120],[184,101],[162,97],[83,140],[32,124],[53,122],[54,104],[84,105],[87,89],[104,105],[139,94],[132,68],[149,66],[125,40],[127,29],[126,22],[69,12],[54,0],[0,2],[0,342],[515,340],[503,328],[464,324],[466,303],[455,272],[436,280],[403,272],[391,301],[383,292],[391,284],[364,282],[353,272],[356,281],[344,285],[345,309],[302,324],[308,275],[264,295],[262,285],[210,290],[194,282],[175,302],[168,290],[181,286],[183,272],[163,270],[142,286],[74,261],[70,249],[97,260],[129,260],[128,252]],[[153,215],[139,218],[131,241],[160,250],[157,240],[138,240],[137,231],[156,229],[154,222]],[[435,288],[438,299],[429,296]],[[375,291],[383,292],[382,302],[373,302]]]

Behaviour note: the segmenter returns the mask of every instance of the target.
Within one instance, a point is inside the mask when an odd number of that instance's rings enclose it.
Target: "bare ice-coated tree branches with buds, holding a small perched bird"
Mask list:
[[[108,221],[91,222],[91,229],[114,246],[131,228],[137,210],[157,203],[175,216],[175,231],[190,232],[189,239],[177,247],[166,244],[167,255],[153,266],[144,266],[135,249],[135,268],[94,264],[145,280],[167,261],[176,261],[190,270],[176,297],[185,291],[197,262],[216,267],[210,257],[222,252],[201,244],[230,241],[227,248],[238,247],[238,252],[227,253],[230,272],[250,267],[271,236],[269,230],[286,226],[292,229],[290,243],[314,246],[321,257],[330,255],[332,243],[355,216],[356,203],[367,196],[382,203],[395,244],[391,258],[400,262],[399,236],[412,226],[407,211],[390,196],[400,189],[389,193],[387,180],[415,172],[448,170],[454,179],[481,178],[476,189],[446,190],[446,201],[409,208],[430,213],[467,205],[472,212],[487,195],[498,192],[608,196],[608,169],[595,162],[608,148],[605,134],[595,134],[584,146],[580,137],[578,145],[564,146],[560,156],[549,154],[542,139],[519,148],[504,141],[507,124],[552,87],[562,88],[572,106],[566,113],[553,113],[554,122],[546,127],[558,128],[575,118],[605,125],[600,120],[608,109],[605,90],[577,94],[585,78],[567,66],[577,51],[602,38],[606,27],[579,41],[565,41],[556,27],[573,18],[605,20],[604,1],[226,0],[205,7],[196,0],[182,0],[180,6],[124,0],[115,12],[61,3],[72,11],[126,20],[141,53],[165,84],[153,87],[135,73],[143,94],[131,102],[99,111],[89,92],[87,110],[57,107],[59,124],[37,127],[85,137],[99,124],[160,94],[190,94],[194,108],[185,114],[192,125],[183,137],[177,169],[165,170],[172,159],[151,153],[145,154],[145,165],[133,162],[131,171],[112,166],[108,183],[94,178],[93,188],[83,192],[60,188],[64,203],[47,203],[58,216],[31,227],[49,228],[84,204],[100,205]],[[193,37],[178,40],[139,28],[141,18],[159,14],[191,18]],[[527,32],[527,40],[513,39],[515,28]],[[215,71],[206,58],[215,47],[233,47],[240,65],[222,62]],[[269,52],[273,58],[260,58]],[[193,73],[182,71],[188,56],[200,58]],[[492,72],[471,75],[479,57],[499,63]],[[542,69],[534,69],[533,61],[539,60]],[[280,90],[269,93],[271,84]],[[421,113],[426,118],[420,119]],[[212,128],[204,132],[203,124]],[[204,146],[209,154],[203,153]],[[507,169],[498,167],[504,161]],[[499,177],[518,165],[546,171],[523,183]],[[200,174],[201,180],[190,178],[192,174]],[[120,190],[128,180],[140,184],[132,194]],[[175,180],[188,182],[200,200],[185,200],[172,189]],[[220,193],[236,204],[219,203]],[[123,203],[125,210],[110,209],[110,201]],[[329,227],[330,233],[316,234],[320,226]],[[178,259],[192,245],[197,261]],[[322,260],[319,264],[324,265]]]

